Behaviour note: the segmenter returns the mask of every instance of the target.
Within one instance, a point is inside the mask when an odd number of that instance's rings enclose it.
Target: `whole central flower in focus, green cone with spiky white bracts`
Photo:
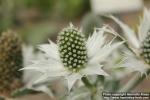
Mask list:
[[[100,62],[105,61],[111,51],[123,42],[112,44],[112,40],[106,43],[103,30],[105,28],[107,27],[95,29],[86,41],[82,32],[70,25],[59,33],[57,45],[50,41],[50,44],[39,46],[45,54],[45,59],[34,61],[24,69],[43,73],[36,82],[47,80],[49,77],[64,77],[67,79],[69,90],[84,76],[108,76]]]

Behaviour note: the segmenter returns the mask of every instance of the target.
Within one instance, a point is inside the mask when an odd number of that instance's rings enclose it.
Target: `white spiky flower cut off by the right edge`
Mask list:
[[[135,54],[127,53],[124,65],[130,71],[146,73],[146,70],[150,68],[150,11],[146,8],[144,9],[143,19],[140,21],[138,32],[132,30],[119,19],[113,16],[111,18],[122,28],[127,44]]]

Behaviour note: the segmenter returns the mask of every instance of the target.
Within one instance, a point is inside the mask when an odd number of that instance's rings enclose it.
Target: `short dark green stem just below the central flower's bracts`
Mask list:
[[[86,77],[82,77],[82,82],[91,91],[91,93],[92,93],[91,98],[94,98],[94,94],[97,92],[95,85],[91,84]]]

